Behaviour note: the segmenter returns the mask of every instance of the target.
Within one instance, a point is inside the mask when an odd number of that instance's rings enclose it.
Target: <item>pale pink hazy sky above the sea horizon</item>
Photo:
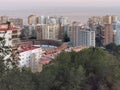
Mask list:
[[[0,0],[0,9],[40,7],[119,7],[120,0]]]

